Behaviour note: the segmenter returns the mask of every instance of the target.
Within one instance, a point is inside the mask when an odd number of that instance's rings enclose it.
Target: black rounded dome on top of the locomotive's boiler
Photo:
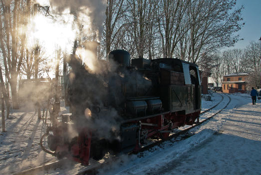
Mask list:
[[[122,66],[130,66],[130,53],[126,50],[117,49],[108,54],[108,60],[114,60]]]

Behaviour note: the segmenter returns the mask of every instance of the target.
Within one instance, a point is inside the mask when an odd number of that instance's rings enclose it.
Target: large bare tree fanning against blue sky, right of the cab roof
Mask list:
[[[241,11],[243,6],[235,7],[233,0],[192,0],[189,2],[187,16],[189,30],[189,48],[187,48],[189,61],[197,62],[203,52],[212,52],[223,46],[232,46],[240,38],[234,33],[241,29],[244,23]],[[186,38],[187,39],[187,38]],[[184,38],[181,40],[184,42]]]

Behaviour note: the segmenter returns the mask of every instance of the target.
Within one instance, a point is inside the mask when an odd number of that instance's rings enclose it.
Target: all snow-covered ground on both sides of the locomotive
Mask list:
[[[211,94],[212,101],[202,98],[202,110],[217,104],[221,95],[224,94]],[[191,129],[187,139],[173,138],[138,155],[120,155],[100,169],[100,174],[261,174],[260,100],[252,105],[249,94],[229,95],[232,98],[229,106]],[[223,108],[228,100],[224,95],[224,102],[211,112]],[[61,109],[68,112],[64,107]],[[209,115],[207,113],[202,119]],[[1,173],[10,174],[56,160],[39,146],[46,126],[37,120],[37,113],[28,109],[13,110],[10,118],[6,119],[7,132],[0,133]],[[72,170],[57,168],[45,173],[73,174],[84,167],[72,164],[69,169]]]

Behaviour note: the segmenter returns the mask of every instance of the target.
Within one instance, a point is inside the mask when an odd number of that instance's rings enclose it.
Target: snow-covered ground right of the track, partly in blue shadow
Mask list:
[[[191,129],[191,137],[172,139],[141,158],[119,160],[100,174],[260,174],[260,100],[252,105],[245,94],[230,96],[229,106]]]

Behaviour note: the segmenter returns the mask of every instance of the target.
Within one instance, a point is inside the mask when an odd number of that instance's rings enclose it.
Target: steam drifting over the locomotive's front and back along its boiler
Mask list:
[[[151,80],[114,60],[99,60],[90,50],[79,48],[76,53],[79,57],[71,57],[68,78],[73,121],[99,137],[120,139],[117,133],[124,120],[125,95],[148,95]]]

